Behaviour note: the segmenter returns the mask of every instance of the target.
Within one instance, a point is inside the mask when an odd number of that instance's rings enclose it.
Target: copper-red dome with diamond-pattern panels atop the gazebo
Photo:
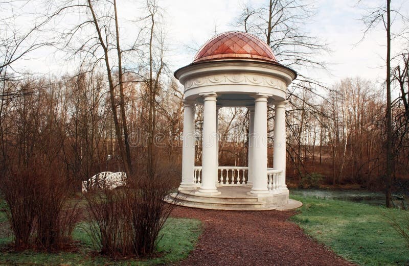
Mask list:
[[[221,33],[207,41],[197,52],[193,63],[228,58],[277,63],[267,43],[256,36],[239,31]]]

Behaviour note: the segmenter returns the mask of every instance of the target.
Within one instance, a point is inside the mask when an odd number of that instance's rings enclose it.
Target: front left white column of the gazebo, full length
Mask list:
[[[198,194],[217,195],[216,188],[216,160],[217,132],[216,132],[216,97],[217,94],[203,93],[205,108],[203,110],[203,144],[202,144],[202,171],[201,187]]]

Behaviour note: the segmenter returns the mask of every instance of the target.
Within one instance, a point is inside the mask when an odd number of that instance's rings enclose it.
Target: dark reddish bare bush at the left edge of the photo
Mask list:
[[[70,244],[79,214],[72,185],[62,175],[21,170],[2,178],[1,192],[14,249],[59,250]]]

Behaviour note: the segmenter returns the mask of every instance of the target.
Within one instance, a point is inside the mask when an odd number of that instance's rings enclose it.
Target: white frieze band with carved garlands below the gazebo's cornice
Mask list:
[[[251,74],[231,74],[231,75],[213,75],[208,77],[200,77],[188,79],[185,82],[185,89],[191,89],[207,85],[215,84],[242,84],[242,85],[258,85],[272,87],[286,91],[287,86],[284,81],[277,78],[263,77]]]

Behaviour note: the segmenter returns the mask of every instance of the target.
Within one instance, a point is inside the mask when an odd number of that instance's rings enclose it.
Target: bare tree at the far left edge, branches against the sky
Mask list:
[[[28,89],[16,86],[16,80],[23,80],[27,73],[19,69],[16,63],[27,59],[30,54],[50,43],[39,38],[50,18],[35,14],[27,20],[24,11],[33,1],[6,1],[0,3],[0,149],[2,162],[6,162],[5,118],[12,102],[21,96],[32,93]],[[29,25],[29,26],[28,26]],[[6,164],[2,163],[2,170]]]

